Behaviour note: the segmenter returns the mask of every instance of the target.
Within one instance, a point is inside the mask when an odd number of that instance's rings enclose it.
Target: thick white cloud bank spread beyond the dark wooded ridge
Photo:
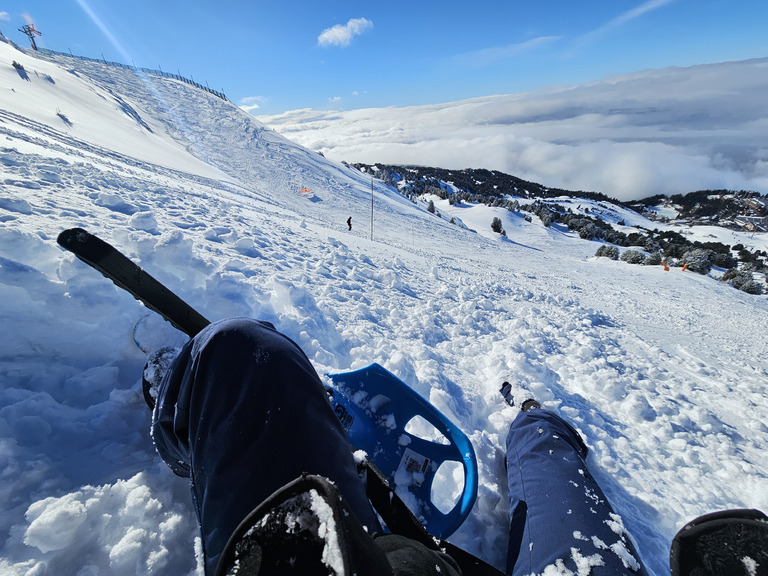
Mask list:
[[[501,170],[620,199],[768,193],[768,58],[432,106],[260,118],[347,162]]]

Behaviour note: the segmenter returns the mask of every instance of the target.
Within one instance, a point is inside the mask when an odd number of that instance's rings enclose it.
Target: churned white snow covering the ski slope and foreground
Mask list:
[[[595,258],[597,242],[497,208],[438,199],[430,214],[204,91],[5,40],[0,138],[2,574],[202,570],[189,487],[153,449],[140,383],[146,351],[185,336],[61,250],[74,226],[210,320],[268,320],[319,373],[378,362],[432,402],[479,463],[450,540],[496,566],[504,380],[580,430],[652,574],[692,518],[768,511],[764,296]]]

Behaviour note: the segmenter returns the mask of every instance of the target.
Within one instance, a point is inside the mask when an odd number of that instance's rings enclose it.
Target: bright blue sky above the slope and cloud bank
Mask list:
[[[765,0],[0,0],[40,46],[192,76],[254,114],[408,106],[768,56]]]

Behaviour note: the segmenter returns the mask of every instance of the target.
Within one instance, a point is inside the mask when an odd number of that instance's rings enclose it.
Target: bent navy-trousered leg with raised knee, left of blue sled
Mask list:
[[[331,479],[381,531],[317,373],[268,323],[225,320],[188,342],[160,386],[153,438],[191,477],[208,573],[240,521],[302,472]]]

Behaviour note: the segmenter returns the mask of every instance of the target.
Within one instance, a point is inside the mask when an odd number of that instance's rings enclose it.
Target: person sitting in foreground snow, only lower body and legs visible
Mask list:
[[[514,405],[509,383],[501,392]],[[579,434],[535,400],[521,408],[506,442],[507,574],[645,574]],[[158,452],[191,479],[208,576],[499,574],[384,532],[317,373],[269,323],[225,320],[190,340],[152,420]]]

